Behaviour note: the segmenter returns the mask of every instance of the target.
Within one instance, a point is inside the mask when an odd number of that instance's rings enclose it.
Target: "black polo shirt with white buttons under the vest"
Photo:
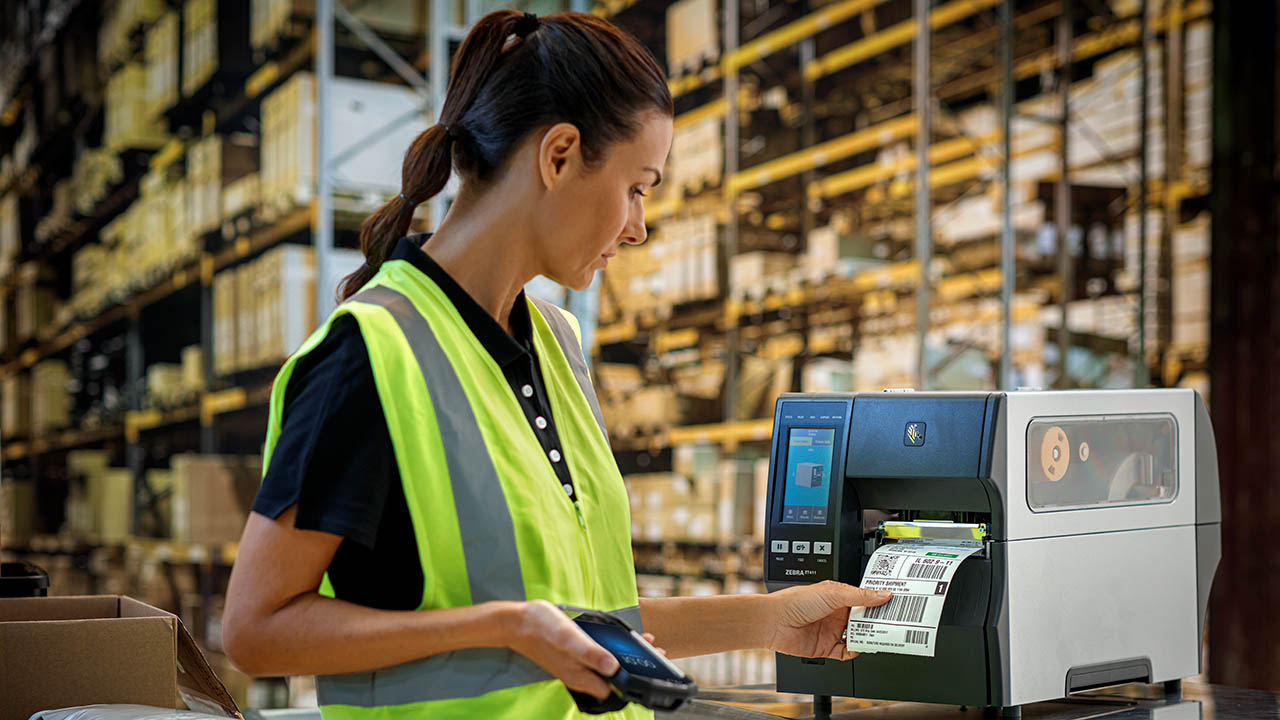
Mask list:
[[[453,302],[502,368],[572,498],[573,480],[538,366],[525,293],[511,310],[512,336],[422,252],[428,237],[401,238],[390,259],[407,260]],[[349,315],[338,318],[325,340],[298,360],[284,389],[280,437],[253,511],[278,518],[292,505],[297,505],[294,527],[342,536],[329,565],[339,598],[385,610],[417,609],[422,601],[417,539],[369,352]]]

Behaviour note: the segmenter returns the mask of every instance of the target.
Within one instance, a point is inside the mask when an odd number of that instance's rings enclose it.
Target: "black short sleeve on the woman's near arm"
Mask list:
[[[399,477],[355,318],[339,316],[288,383],[280,437],[253,511],[278,518],[296,503],[294,527],[371,550]]]

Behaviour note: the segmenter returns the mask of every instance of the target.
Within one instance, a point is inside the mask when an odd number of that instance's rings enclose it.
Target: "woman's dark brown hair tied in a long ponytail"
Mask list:
[[[586,13],[489,13],[458,47],[440,123],[404,154],[401,195],[360,227],[366,265],[343,279],[339,299],[374,277],[408,232],[413,209],[440,192],[453,169],[485,182],[525,136],[559,122],[577,127],[591,167],[609,145],[632,137],[650,109],[675,113],[662,67],[631,35]]]

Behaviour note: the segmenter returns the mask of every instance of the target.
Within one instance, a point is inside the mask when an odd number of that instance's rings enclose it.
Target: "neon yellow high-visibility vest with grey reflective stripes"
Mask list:
[[[335,318],[364,336],[404,486],[419,557],[419,610],[547,600],[640,624],[630,509],[568,313],[530,300],[534,347],[570,500],[500,368],[430,278],[389,260],[284,364],[271,388],[264,465],[280,436],[284,389]],[[321,592],[332,594],[328,578]],[[316,678],[335,719],[579,717],[563,683],[507,648]],[[618,719],[652,717],[630,705]]]

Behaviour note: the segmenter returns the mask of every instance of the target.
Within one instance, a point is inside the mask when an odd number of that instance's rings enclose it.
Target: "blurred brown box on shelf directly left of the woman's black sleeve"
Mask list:
[[[216,544],[239,539],[248,509],[262,478],[256,455],[174,455],[173,539]]]

